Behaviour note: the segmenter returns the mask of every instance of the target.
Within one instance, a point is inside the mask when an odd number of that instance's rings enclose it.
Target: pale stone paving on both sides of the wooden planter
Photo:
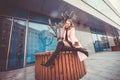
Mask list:
[[[80,80],[120,80],[120,52],[101,52],[86,61],[87,74]],[[0,72],[0,80],[35,80],[34,66]]]

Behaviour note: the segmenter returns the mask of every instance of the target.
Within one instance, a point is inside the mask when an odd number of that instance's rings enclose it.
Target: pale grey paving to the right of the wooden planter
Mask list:
[[[80,80],[120,80],[120,51],[101,52],[86,61],[87,74]]]

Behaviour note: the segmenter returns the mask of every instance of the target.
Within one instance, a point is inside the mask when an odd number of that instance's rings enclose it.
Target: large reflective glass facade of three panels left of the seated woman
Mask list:
[[[47,24],[29,20],[27,25],[26,20],[0,17],[0,71],[34,63],[33,54],[54,51],[56,45],[57,39]]]

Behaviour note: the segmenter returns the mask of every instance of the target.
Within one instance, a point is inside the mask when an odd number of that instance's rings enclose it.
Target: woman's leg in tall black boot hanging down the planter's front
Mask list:
[[[58,42],[55,52],[52,54],[52,56],[49,58],[49,60],[45,64],[41,64],[41,65],[46,67],[52,65],[56,56],[60,53],[60,51],[62,51],[63,47],[64,47],[63,41]]]

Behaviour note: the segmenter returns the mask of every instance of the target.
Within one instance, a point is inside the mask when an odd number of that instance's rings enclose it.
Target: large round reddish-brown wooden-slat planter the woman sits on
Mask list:
[[[61,52],[55,59],[53,67],[43,67],[53,52],[34,54],[36,80],[79,80],[86,74],[84,61],[80,61],[73,51]]]

